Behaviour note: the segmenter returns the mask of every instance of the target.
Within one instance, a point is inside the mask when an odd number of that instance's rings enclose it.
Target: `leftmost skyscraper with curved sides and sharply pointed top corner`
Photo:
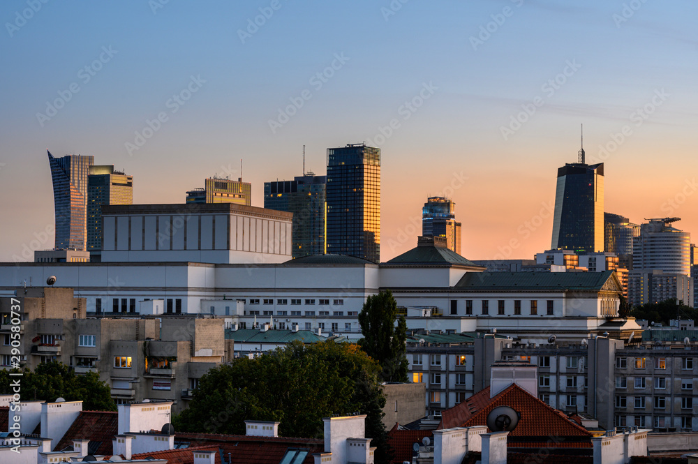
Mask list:
[[[57,250],[85,250],[87,246],[87,175],[94,156],[66,155],[48,162],[53,181]]]

